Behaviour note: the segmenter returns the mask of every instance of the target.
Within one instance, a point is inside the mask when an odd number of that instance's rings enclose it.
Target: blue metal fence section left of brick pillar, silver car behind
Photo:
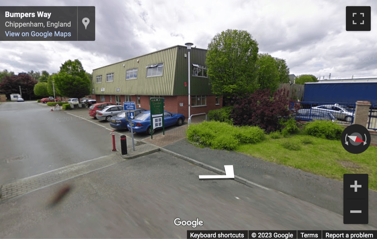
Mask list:
[[[296,119],[311,121],[315,119],[333,120],[343,124],[352,124],[355,115],[355,104],[334,102],[294,102],[290,106],[296,109]],[[329,114],[331,113],[331,114]]]

